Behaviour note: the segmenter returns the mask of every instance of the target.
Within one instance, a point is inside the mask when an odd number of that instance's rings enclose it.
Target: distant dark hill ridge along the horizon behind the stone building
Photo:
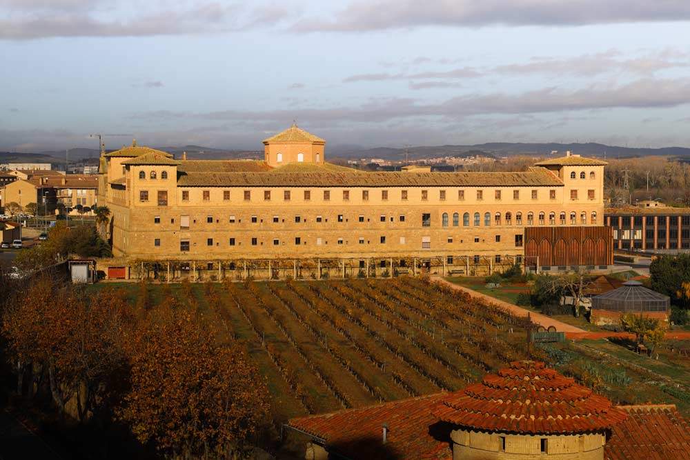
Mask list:
[[[181,158],[182,152],[187,153],[189,159],[261,159],[263,152],[260,150],[224,149],[204,146],[167,146],[154,147]],[[108,149],[112,151],[116,149]],[[488,142],[466,145],[445,146],[417,146],[410,148],[374,147],[364,148],[359,146],[327,146],[326,154],[331,158],[360,159],[380,158],[387,160],[403,160],[408,157],[411,160],[432,157],[466,157],[469,155],[486,154],[493,157],[511,155],[529,155],[535,157],[549,157],[551,152],[563,155],[570,150],[584,157],[629,158],[646,157],[649,155],[688,157],[690,148],[663,147],[663,148],[635,148],[621,146],[607,146],[602,143],[521,143],[521,142]],[[97,158],[99,151],[90,148],[69,149],[69,160],[80,161],[82,159]],[[50,150],[37,153],[0,152],[0,163],[49,162],[63,164],[65,162],[64,150]]]

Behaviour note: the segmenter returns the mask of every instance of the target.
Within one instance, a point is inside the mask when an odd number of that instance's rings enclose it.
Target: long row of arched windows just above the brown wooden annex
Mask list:
[[[472,217],[472,219],[470,219]],[[569,217],[569,219],[566,219],[566,217]],[[569,216],[566,216],[565,212],[560,212],[558,214],[558,225],[566,225],[566,223],[569,223],[571,226],[575,225],[586,225],[587,223],[587,213],[582,211],[580,212],[579,215],[580,219],[578,221],[578,213],[575,211],[572,211]],[[544,211],[539,212],[537,214],[538,218],[538,224],[540,226],[546,225],[546,213]],[[473,226],[479,227],[482,225],[482,220],[484,221],[484,227],[489,227],[491,226],[491,212],[484,212],[484,216],[482,218],[482,214],[480,212],[475,212],[473,216],[470,216],[469,212],[465,212],[462,214],[462,226],[463,227],[469,227],[470,226],[470,221],[473,222]],[[513,225],[513,213],[511,212],[506,212],[505,214],[501,214],[500,212],[496,212],[493,214],[493,223],[496,226],[500,225],[506,225],[510,226]],[[557,223],[556,221],[556,213],[555,212],[549,212],[549,225],[555,226]],[[591,225],[595,225],[597,223],[597,213],[596,211],[593,211],[589,215],[589,223]],[[448,227],[450,225],[449,221],[449,214],[447,212],[444,212],[441,216],[441,225],[444,227]],[[522,225],[522,212],[515,212],[515,225],[521,226]],[[533,212],[528,212],[526,214],[526,222],[525,225],[527,226],[533,226],[534,225],[534,213]],[[460,226],[460,214],[457,212],[453,212],[453,227],[459,227]]]

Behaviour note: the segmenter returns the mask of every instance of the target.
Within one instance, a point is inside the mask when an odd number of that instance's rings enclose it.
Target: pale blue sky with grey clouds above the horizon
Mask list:
[[[0,0],[0,150],[690,147],[688,0]]]

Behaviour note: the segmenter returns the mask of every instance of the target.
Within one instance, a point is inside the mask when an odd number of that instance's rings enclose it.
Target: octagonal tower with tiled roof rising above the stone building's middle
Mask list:
[[[264,140],[264,159],[276,168],[288,163],[323,164],[326,141],[293,126]]]

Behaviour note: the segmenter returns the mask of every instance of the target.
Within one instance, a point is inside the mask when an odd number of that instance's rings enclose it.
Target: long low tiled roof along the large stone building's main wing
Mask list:
[[[283,168],[288,168],[284,170]],[[348,168],[349,169],[349,168]],[[178,186],[186,187],[562,187],[563,183],[544,168],[524,172],[362,172],[314,166],[295,172],[290,166],[266,172],[189,172]]]

